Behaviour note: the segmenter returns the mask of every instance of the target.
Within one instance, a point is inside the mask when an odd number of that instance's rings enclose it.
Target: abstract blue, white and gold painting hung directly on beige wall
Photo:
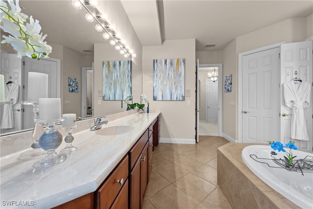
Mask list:
[[[153,60],[153,100],[185,100],[185,59]]]

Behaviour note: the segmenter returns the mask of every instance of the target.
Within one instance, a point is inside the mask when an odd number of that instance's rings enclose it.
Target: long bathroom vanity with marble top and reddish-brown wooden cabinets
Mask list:
[[[18,159],[22,151],[1,157],[2,207],[3,201],[28,201],[6,208],[141,208],[159,140],[160,110],[127,112],[107,116],[108,124],[96,131],[89,130],[93,120],[77,122],[72,143],[78,150],[56,166],[34,168],[36,160]]]

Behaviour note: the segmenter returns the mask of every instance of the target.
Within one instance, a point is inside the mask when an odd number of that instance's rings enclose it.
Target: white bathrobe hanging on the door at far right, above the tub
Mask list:
[[[284,99],[286,106],[292,109],[291,139],[309,140],[303,109],[310,107],[311,83],[293,80],[284,83]]]

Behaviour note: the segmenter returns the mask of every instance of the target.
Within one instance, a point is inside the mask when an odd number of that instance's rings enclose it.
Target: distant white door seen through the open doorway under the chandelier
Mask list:
[[[219,100],[218,100],[219,81],[206,80],[206,121],[208,123],[218,122]]]

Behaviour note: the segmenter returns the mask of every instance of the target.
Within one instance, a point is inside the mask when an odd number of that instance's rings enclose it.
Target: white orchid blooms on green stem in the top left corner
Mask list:
[[[4,38],[1,44],[8,43],[18,52],[18,57],[27,56],[33,59],[40,59],[41,56],[48,57],[52,47],[44,42],[47,35],[40,33],[41,26],[38,20],[29,17],[21,12],[19,0],[8,0],[9,6],[0,0],[0,28],[10,33]]]

